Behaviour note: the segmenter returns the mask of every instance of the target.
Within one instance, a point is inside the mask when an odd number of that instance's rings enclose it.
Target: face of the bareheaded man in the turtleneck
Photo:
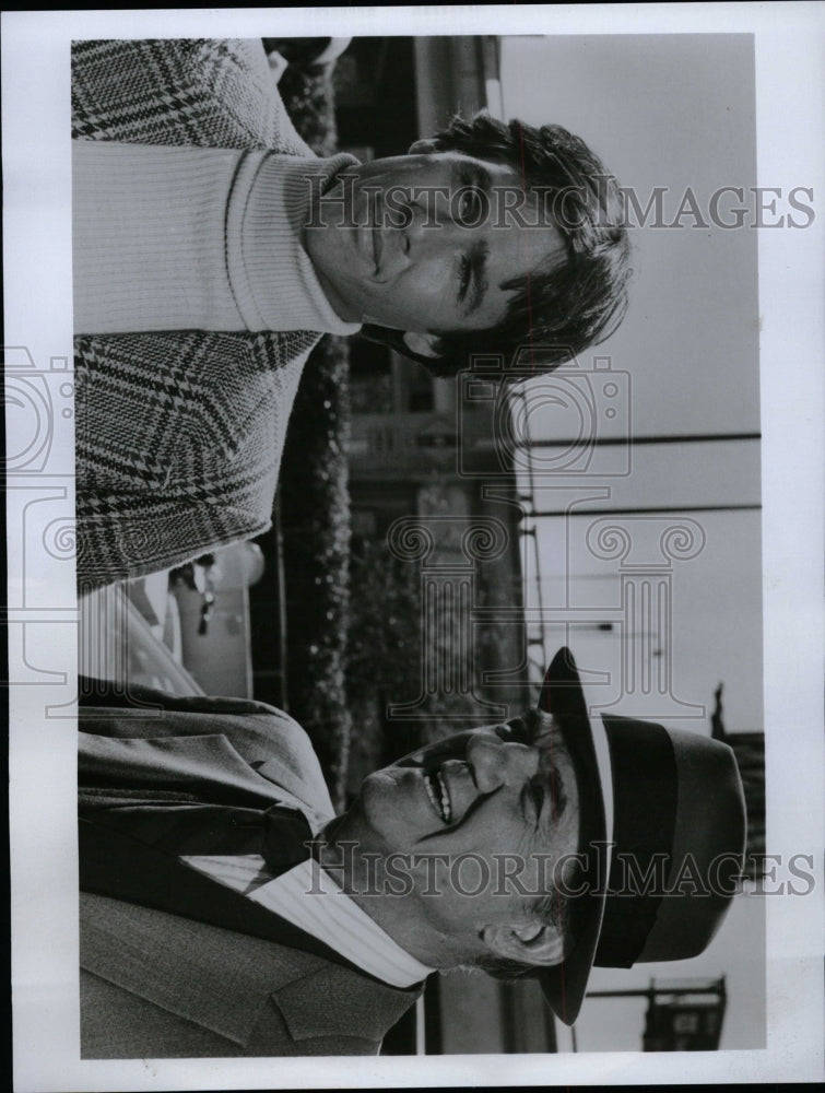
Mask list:
[[[509,166],[419,152],[346,174],[354,178],[321,198],[323,226],[307,228],[306,246],[347,321],[434,334],[490,329],[511,296],[503,284],[564,258],[558,230]],[[518,214],[508,211],[516,199]]]

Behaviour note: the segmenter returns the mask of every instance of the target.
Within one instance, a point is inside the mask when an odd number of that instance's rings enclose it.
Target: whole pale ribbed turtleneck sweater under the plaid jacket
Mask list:
[[[303,231],[313,198],[356,162],[74,141],[75,332],[354,333]]]

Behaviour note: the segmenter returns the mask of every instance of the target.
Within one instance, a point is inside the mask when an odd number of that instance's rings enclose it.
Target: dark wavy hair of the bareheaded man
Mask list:
[[[503,355],[506,375],[520,349],[531,369],[550,372],[613,333],[627,308],[630,247],[618,184],[587,144],[561,126],[537,129],[484,113],[470,120],[456,117],[432,139],[436,151],[514,167],[526,190],[551,202],[564,195],[564,215],[555,223],[566,260],[506,282],[503,287],[515,295],[503,321],[488,330],[440,333],[438,357],[410,350],[398,330],[365,325],[362,336],[419,361],[433,375],[453,376],[478,353]]]

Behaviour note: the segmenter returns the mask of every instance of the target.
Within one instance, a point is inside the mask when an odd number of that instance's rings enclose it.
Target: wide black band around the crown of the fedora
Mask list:
[[[602,715],[613,767],[613,857],[596,964],[630,967],[652,929],[676,826],[676,757],[650,721]],[[644,738],[643,738],[644,731]]]

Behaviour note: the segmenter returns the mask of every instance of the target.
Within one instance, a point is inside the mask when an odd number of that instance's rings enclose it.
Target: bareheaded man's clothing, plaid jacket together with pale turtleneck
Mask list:
[[[319,188],[307,176],[351,160],[298,137],[260,39],[75,42],[71,59],[86,589],[271,526],[307,355],[354,329],[296,231]]]

